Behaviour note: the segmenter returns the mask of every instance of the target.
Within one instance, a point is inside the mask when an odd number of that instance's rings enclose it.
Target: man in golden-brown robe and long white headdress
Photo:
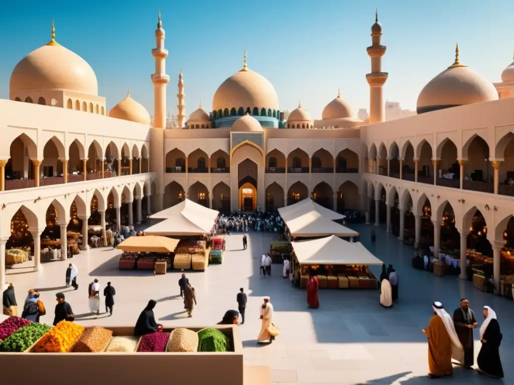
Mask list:
[[[443,304],[432,304],[434,315],[428,328],[423,331],[428,338],[428,367],[430,377],[447,376],[453,373],[451,359],[464,361],[464,349],[458,340],[453,319],[444,310]]]

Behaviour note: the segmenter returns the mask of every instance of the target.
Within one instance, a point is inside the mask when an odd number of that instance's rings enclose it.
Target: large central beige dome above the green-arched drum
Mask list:
[[[225,80],[214,93],[213,111],[232,108],[278,110],[279,98],[271,83],[257,72],[243,68]]]

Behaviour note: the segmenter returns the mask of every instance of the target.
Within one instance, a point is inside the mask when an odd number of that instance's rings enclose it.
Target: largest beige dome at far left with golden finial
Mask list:
[[[11,74],[11,93],[25,90],[64,90],[98,96],[93,69],[79,55],[52,40],[25,56]]]

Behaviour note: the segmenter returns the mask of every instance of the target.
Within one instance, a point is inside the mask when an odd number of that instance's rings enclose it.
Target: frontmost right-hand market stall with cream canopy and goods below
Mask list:
[[[320,288],[376,289],[377,279],[369,266],[382,264],[360,242],[348,242],[335,235],[291,242],[290,279],[302,288],[312,272]]]

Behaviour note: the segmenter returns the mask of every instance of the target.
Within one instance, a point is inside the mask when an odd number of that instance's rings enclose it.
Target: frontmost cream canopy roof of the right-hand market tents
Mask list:
[[[360,242],[348,242],[336,236],[291,242],[301,265],[382,265]]]

